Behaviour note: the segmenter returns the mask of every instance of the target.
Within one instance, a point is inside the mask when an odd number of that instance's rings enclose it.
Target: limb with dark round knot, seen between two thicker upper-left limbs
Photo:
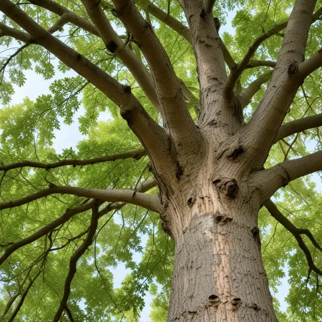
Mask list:
[[[145,65],[137,58],[137,55],[120,39],[109,23],[99,2],[91,0],[82,0],[90,19],[94,23],[100,38],[106,45],[106,48],[115,53],[118,58],[128,67],[138,85],[147,95],[152,104],[158,108],[159,100],[156,94],[152,77]]]

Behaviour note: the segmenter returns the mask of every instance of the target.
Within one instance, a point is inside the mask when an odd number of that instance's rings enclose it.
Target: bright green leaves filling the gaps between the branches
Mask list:
[[[57,2],[88,19],[81,1]],[[158,0],[154,4],[167,11],[168,1]],[[137,5],[143,13],[147,3],[141,0],[137,1]],[[227,17],[235,12],[232,20],[235,33],[222,34],[222,39],[233,58],[240,61],[256,37],[273,25],[285,21],[292,5],[293,1],[288,0],[217,1],[214,14],[219,17],[222,25],[225,25],[229,20]],[[319,5],[321,1],[317,7]],[[46,29],[57,21],[54,14],[41,7],[27,3],[24,5],[24,10]],[[186,24],[177,2],[171,2],[170,13]],[[110,11],[106,11],[106,14],[111,23],[124,32],[119,20]],[[165,24],[153,16],[150,18],[177,76],[199,99],[195,57],[191,46]],[[16,24],[10,23],[19,29]],[[67,37],[63,36],[66,34]],[[321,44],[321,34],[322,22],[317,21],[310,31],[307,56],[315,52],[318,44]],[[160,122],[159,112],[152,107],[133,76],[114,54],[106,50],[104,43],[98,37],[73,25],[65,25],[56,36],[61,37],[69,46],[113,75],[118,81],[130,85],[132,92],[151,117]],[[276,60],[277,48],[280,48],[281,42],[281,35],[270,37],[260,46],[253,59]],[[1,37],[0,45],[4,49],[12,48],[11,54],[16,50],[15,47],[20,47],[22,44],[10,37]],[[132,43],[132,48],[146,64],[135,43]],[[2,66],[5,61],[6,59],[1,59],[0,65]],[[25,79],[24,71],[31,69],[42,75],[45,80],[52,79],[51,94],[39,93],[35,101],[25,98],[21,104],[10,105],[11,96],[19,95],[19,92],[14,93],[13,85],[23,86],[25,81],[28,81]],[[65,73],[66,77],[53,79],[57,70]],[[242,87],[247,87],[251,81],[268,70],[267,67],[247,69],[241,77]],[[322,112],[321,78],[322,70],[319,69],[305,80],[303,88],[298,90],[285,122]],[[245,110],[245,121],[257,108],[265,86],[262,86]],[[81,76],[75,76],[66,65],[58,62],[39,46],[28,46],[9,62],[2,75],[0,103],[3,105],[0,109],[0,161],[3,164],[26,159],[41,160],[44,163],[66,158],[88,159],[140,147],[137,137],[119,116],[118,107],[97,88]],[[196,116],[194,105],[194,101],[188,103],[193,117]],[[62,154],[57,154],[52,148],[54,130],[60,129],[60,122],[70,125],[75,112],[81,106],[84,108],[84,113],[79,118],[79,131],[87,135],[87,138],[79,142],[76,151],[67,148]],[[109,113],[109,121],[99,121],[102,113]],[[321,129],[310,129],[298,136],[286,138],[284,142],[272,147],[265,166],[272,166],[286,157],[304,156],[311,150],[322,149],[320,137]],[[289,148],[290,144],[292,148]],[[148,172],[147,165],[148,158],[143,157],[139,160],[116,160],[84,167],[63,166],[48,171],[31,170],[27,167],[10,170],[0,179],[1,202],[19,199],[46,188],[47,181],[56,185],[99,189],[134,189],[138,181],[144,182],[152,176]],[[156,188],[150,193],[157,193]],[[310,177],[292,182],[282,188],[275,198],[279,210],[286,217],[297,227],[309,228],[317,241],[322,243],[320,233],[322,196],[317,193]],[[75,196],[52,195],[21,207],[1,211],[0,244],[15,242],[29,236],[60,217],[66,209],[81,202],[82,199]],[[59,226],[51,236],[47,234],[14,252],[10,260],[1,267],[0,311],[4,311],[11,296],[20,294],[26,287],[29,283],[28,276],[33,278],[41,270],[15,321],[50,321],[62,297],[69,259],[85,237],[81,236],[75,240],[72,238],[84,232],[89,223],[90,212],[79,213]],[[311,273],[307,282],[307,261],[296,240],[269,215],[265,208],[260,210],[259,225],[263,261],[272,290],[276,290],[280,285],[281,278],[285,276],[285,268],[289,269],[290,290],[286,313],[279,311],[279,303],[274,299],[279,321],[321,321],[322,293],[321,288],[318,289],[317,286],[321,285],[322,281],[315,273]],[[171,288],[174,242],[161,229],[159,215],[127,204],[121,210],[101,217],[98,232],[95,242],[78,262],[77,273],[72,281],[68,305],[73,312],[74,320],[94,322],[123,319],[136,322],[144,307],[143,298],[149,291],[154,296],[151,304],[151,321],[165,321]],[[43,259],[42,254],[48,247],[50,238],[53,243],[52,249],[57,250],[50,251]],[[307,238],[305,241],[315,256],[316,265],[322,267],[321,254],[317,255],[318,251]],[[58,249],[60,247],[61,249]],[[119,287],[114,287],[113,271],[115,272],[119,265],[125,265],[129,274]],[[13,307],[7,313],[8,316],[12,313]],[[64,316],[63,321],[68,321],[68,317]]]

